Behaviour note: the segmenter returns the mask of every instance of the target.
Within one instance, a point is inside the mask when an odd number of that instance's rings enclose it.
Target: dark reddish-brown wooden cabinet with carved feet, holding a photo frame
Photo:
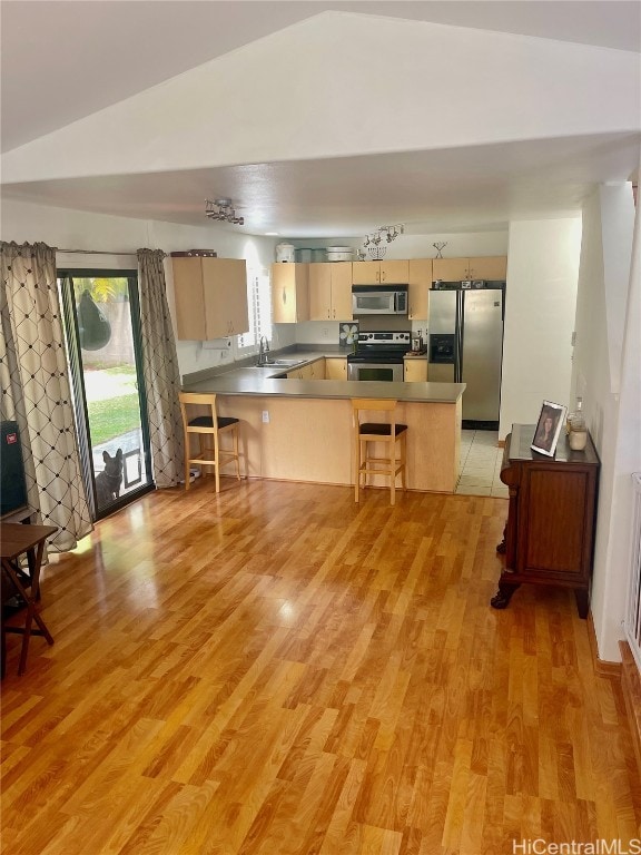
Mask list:
[[[514,424],[505,440],[501,481],[510,488],[505,554],[495,609],[504,609],[523,582],[572,588],[588,617],[594,547],[599,456],[592,439],[572,451],[564,433],[548,458],[530,445],[535,425]]]

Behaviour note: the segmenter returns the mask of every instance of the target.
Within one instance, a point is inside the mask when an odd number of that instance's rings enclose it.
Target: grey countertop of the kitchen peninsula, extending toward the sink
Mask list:
[[[465,390],[465,383],[389,383],[356,380],[287,380],[275,379],[296,367],[322,358],[319,353],[283,353],[287,358],[299,358],[295,366],[274,365],[269,368],[237,367],[209,377],[189,382],[185,392],[215,392],[218,395],[269,395],[276,397],[351,399],[382,397],[417,403],[455,404]]]

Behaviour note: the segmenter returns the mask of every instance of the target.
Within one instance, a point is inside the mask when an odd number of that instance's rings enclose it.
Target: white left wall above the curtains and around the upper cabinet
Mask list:
[[[60,249],[108,250],[105,255],[58,254],[59,267],[105,267],[135,269],[136,250],[142,247],[166,253],[187,249],[213,249],[220,257],[245,258],[247,266],[268,269],[274,261],[275,239],[252,237],[207,223],[201,228],[157,220],[111,217],[79,210],[51,208],[29,203],[4,200],[2,204],[2,239],[33,243],[42,240]],[[169,309],[175,317],[171,259],[165,259]],[[289,341],[286,333],[280,336]],[[290,333],[290,340],[294,334]],[[231,353],[223,342],[176,342],[181,374],[203,371],[237,357],[235,338]],[[219,350],[210,350],[220,345]],[[283,346],[283,344],[280,344]]]

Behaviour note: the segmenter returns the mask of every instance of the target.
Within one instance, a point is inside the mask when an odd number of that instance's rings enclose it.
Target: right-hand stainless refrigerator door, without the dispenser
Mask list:
[[[461,379],[467,384],[464,420],[499,421],[502,358],[503,292],[465,292],[461,360]]]

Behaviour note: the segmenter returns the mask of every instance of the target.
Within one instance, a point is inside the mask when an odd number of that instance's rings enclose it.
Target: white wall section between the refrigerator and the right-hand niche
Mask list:
[[[580,219],[510,224],[501,439],[535,423],[544,400],[571,403],[580,245]]]

